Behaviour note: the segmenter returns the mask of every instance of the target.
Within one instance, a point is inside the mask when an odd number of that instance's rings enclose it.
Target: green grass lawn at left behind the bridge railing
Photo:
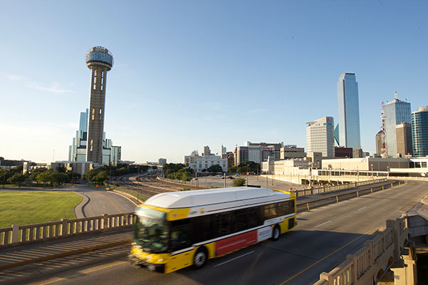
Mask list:
[[[0,191],[0,228],[76,219],[82,198],[72,192]]]

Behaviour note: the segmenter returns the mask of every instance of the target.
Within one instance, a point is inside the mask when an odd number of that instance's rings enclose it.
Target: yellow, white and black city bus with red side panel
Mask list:
[[[166,192],[136,208],[130,261],[169,273],[262,242],[297,224],[295,193],[230,187]]]

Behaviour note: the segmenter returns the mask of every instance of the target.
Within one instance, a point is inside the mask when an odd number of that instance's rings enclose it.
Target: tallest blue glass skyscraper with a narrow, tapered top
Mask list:
[[[337,81],[339,143],[342,147],[361,147],[360,104],[355,73],[343,73]]]

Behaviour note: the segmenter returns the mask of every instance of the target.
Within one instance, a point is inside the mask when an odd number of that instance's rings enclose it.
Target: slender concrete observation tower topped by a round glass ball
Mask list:
[[[102,164],[107,71],[113,67],[113,55],[107,48],[95,46],[86,53],[86,66],[91,69],[86,161]]]

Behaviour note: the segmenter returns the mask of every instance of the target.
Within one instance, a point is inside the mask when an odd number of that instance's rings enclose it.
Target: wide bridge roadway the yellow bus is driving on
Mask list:
[[[158,274],[136,269],[125,257],[46,276],[34,284],[313,284],[373,237],[387,219],[407,212],[428,193],[409,182],[298,214],[297,227],[270,240],[212,259],[204,269]]]

